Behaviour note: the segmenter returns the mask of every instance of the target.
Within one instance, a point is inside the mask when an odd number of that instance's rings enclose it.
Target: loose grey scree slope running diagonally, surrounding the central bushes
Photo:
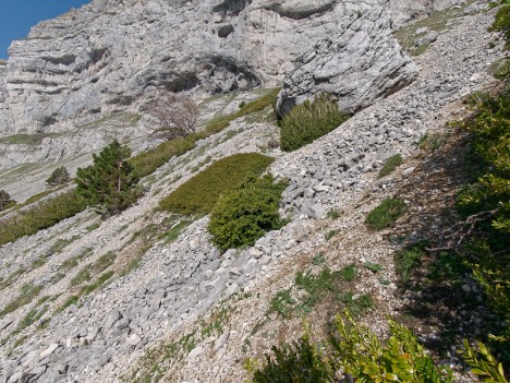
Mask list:
[[[117,382],[121,376],[143,381],[160,371],[155,376],[163,381],[240,382],[245,358],[299,336],[299,320],[274,315],[264,323],[264,318],[271,297],[291,286],[295,273],[319,252],[335,270],[351,263],[362,270],[366,262],[385,265],[388,286],[364,271],[354,290],[374,297],[377,310],[365,320],[382,332],[384,314],[404,303],[389,261],[399,246],[367,231],[365,215],[408,180],[422,177],[413,143],[462,115],[460,100],[493,81],[487,68],[501,57],[487,32],[493,17],[490,12],[460,17],[416,58],[421,73],[413,84],[294,153],[268,148],[277,128],[253,123],[248,116],[145,179],[150,191],[119,216],[101,223],[87,211],[3,246],[3,280],[11,276],[15,283],[2,282],[0,307],[5,311],[16,301],[20,307],[0,318],[5,339],[0,376],[8,382]],[[282,201],[291,219],[286,227],[253,248],[224,254],[209,241],[207,217],[181,228],[174,242],[159,240],[178,222],[154,212],[160,199],[212,160],[259,151],[276,158],[271,172],[291,182]],[[382,161],[396,153],[405,160],[401,170],[377,179]],[[425,207],[413,199],[408,204],[414,212]],[[332,210],[344,213],[336,220],[326,218]],[[325,235],[331,230],[329,242]],[[112,273],[108,283],[72,304],[84,286],[76,277],[83,267],[99,263]],[[90,283],[98,277],[93,275]],[[23,327],[33,310],[41,315],[32,315],[34,323]]]

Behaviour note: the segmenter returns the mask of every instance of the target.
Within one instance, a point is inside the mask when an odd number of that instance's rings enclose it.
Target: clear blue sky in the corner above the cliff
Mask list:
[[[0,59],[7,59],[11,41],[25,38],[31,27],[92,0],[0,0]]]

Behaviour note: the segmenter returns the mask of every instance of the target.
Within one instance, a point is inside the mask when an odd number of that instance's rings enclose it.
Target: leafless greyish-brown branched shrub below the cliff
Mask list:
[[[149,106],[148,112],[158,119],[159,133],[166,140],[186,136],[195,132],[198,107],[190,97],[171,93],[159,95]]]

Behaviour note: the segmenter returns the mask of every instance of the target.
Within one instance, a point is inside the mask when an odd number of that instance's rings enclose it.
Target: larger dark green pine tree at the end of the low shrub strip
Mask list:
[[[116,140],[99,155],[94,165],[76,173],[76,194],[101,213],[118,213],[133,204],[139,196],[138,178],[126,161],[131,149]]]

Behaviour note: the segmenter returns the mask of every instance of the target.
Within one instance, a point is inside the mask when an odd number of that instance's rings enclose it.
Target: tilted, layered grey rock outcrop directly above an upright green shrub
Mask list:
[[[377,1],[339,3],[330,16],[338,32],[324,34],[287,75],[280,113],[320,92],[333,94],[341,109],[355,111],[416,77],[417,67],[391,35],[390,15]]]

